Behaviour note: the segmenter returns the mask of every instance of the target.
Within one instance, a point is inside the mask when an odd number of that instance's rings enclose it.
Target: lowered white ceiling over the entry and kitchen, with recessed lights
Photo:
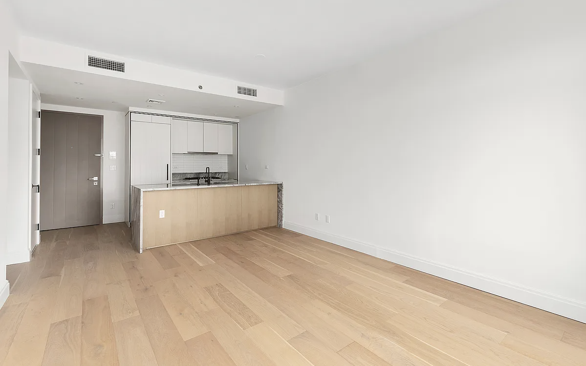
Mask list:
[[[41,101],[46,104],[123,112],[128,111],[128,107],[146,108],[147,99],[154,98],[165,101],[162,105],[153,105],[152,108],[156,110],[228,118],[244,118],[276,107],[258,101],[39,64],[24,63],[24,66],[39,88]],[[238,107],[235,107],[236,105]]]

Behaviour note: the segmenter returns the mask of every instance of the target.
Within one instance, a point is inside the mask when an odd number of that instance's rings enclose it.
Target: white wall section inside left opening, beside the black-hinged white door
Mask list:
[[[30,83],[9,78],[8,92],[8,194],[6,263],[30,259]]]

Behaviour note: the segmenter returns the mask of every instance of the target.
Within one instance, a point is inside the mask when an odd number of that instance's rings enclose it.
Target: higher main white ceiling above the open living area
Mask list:
[[[500,0],[9,1],[25,35],[287,88]]]

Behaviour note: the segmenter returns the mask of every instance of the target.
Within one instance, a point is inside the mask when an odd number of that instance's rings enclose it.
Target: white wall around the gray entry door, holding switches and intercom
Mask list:
[[[104,158],[102,172],[102,190],[104,199],[104,224],[124,221],[124,112],[92,110],[89,108],[67,107],[64,105],[41,104],[41,110],[96,114],[104,116]],[[43,122],[41,119],[41,129]],[[108,153],[117,152],[116,160],[110,160]],[[111,171],[110,165],[116,170]],[[114,209],[110,204],[114,203]]]

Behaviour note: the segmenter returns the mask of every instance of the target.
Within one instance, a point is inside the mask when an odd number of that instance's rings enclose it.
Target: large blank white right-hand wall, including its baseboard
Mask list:
[[[507,2],[288,90],[240,172],[285,227],[586,321],[584,13]]]

